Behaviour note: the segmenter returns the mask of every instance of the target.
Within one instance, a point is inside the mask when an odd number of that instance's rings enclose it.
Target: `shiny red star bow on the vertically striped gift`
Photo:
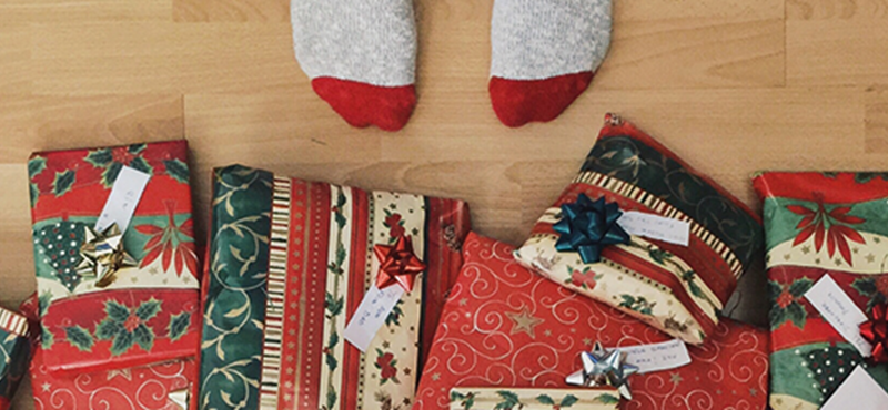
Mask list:
[[[380,259],[380,274],[376,276],[376,287],[380,289],[397,284],[411,291],[416,275],[425,270],[425,264],[413,253],[410,236],[400,236],[394,246],[376,245],[373,253]]]

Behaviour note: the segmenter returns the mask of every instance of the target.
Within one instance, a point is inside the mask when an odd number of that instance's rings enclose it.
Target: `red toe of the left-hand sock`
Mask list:
[[[360,129],[376,125],[385,131],[398,131],[407,124],[416,106],[416,89],[376,86],[356,81],[321,76],[312,88],[349,124]]]

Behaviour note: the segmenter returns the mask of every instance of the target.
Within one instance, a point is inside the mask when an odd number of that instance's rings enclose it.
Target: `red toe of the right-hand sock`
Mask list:
[[[488,86],[493,111],[512,127],[555,120],[589,86],[592,76],[588,71],[545,80],[494,76]]]

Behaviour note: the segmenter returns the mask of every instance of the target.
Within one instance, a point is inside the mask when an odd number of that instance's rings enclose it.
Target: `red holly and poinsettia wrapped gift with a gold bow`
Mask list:
[[[49,371],[125,369],[194,353],[200,290],[186,154],[188,144],[175,141],[32,155],[34,263]],[[94,263],[88,249],[114,237],[92,229],[124,166],[150,175],[141,199],[122,203],[134,205],[121,239],[132,260],[100,277],[83,266],[115,264]]]

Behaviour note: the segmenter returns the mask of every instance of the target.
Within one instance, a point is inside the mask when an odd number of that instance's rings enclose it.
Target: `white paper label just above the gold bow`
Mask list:
[[[109,226],[118,224],[120,232],[125,233],[149,180],[151,180],[149,174],[129,166],[122,167],[111,187],[111,195],[104,203],[102,214],[95,222],[95,230],[102,232]]]

